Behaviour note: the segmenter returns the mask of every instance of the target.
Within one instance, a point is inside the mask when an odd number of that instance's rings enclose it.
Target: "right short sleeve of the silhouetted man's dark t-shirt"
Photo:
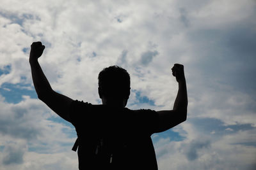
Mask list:
[[[152,135],[159,127],[159,117],[155,110],[136,110],[142,128]]]

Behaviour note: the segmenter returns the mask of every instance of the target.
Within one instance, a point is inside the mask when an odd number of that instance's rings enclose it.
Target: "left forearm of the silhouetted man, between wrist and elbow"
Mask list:
[[[52,91],[51,85],[47,78],[45,77],[44,72],[38,60],[29,60],[31,66],[32,79],[35,86],[36,93],[39,98],[43,97],[48,92]]]

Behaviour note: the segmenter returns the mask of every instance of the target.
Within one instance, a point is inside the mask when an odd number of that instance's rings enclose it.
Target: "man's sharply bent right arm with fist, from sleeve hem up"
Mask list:
[[[175,125],[184,122],[187,118],[188,94],[184,66],[181,64],[174,64],[172,67],[172,74],[179,83],[178,94],[173,105],[173,110],[157,111],[159,115],[159,127],[156,132],[163,132],[175,127]]]

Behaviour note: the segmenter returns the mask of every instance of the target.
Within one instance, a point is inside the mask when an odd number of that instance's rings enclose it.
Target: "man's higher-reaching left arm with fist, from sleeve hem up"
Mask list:
[[[73,100],[52,90],[49,81],[45,77],[45,74],[38,63],[38,58],[44,52],[44,48],[45,46],[42,45],[41,42],[34,42],[31,45],[29,55],[29,63],[36,94],[41,101],[51,108],[51,110],[70,122],[69,107]]]

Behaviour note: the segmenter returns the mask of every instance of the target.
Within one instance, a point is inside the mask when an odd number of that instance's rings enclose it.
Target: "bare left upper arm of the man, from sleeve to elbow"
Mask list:
[[[70,122],[70,106],[73,99],[52,90],[51,93],[47,94],[47,97],[41,100],[61,118]]]

